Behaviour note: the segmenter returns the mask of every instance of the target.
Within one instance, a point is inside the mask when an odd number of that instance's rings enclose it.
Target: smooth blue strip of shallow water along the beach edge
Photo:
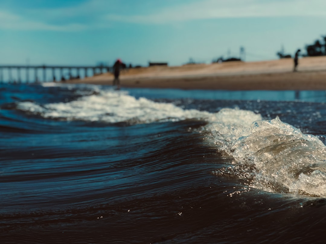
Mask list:
[[[213,100],[261,100],[261,101],[302,101],[326,102],[325,90],[286,90],[286,91],[230,91],[230,90],[180,90],[180,89],[152,89],[127,88],[132,96],[149,98],[180,99],[213,99]]]

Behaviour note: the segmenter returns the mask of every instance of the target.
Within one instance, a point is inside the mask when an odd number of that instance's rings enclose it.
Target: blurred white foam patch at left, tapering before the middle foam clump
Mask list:
[[[19,102],[17,109],[44,118],[130,124],[212,117],[212,114],[205,111],[184,110],[172,103],[153,102],[146,98],[136,99],[127,92],[114,90],[100,90],[72,102],[45,105]]]

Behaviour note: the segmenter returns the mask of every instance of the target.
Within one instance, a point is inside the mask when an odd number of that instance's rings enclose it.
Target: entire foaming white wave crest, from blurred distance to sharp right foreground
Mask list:
[[[246,179],[251,186],[276,193],[326,197],[326,147],[278,117],[237,108],[217,113],[183,109],[173,103],[135,98],[126,91],[98,89],[71,102],[17,102],[17,109],[48,119],[100,121],[129,125],[197,119],[207,122],[207,142],[234,158],[217,175]]]

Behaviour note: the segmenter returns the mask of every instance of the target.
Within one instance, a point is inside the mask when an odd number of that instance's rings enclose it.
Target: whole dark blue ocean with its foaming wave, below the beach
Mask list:
[[[1,243],[324,243],[325,102],[1,84]]]

